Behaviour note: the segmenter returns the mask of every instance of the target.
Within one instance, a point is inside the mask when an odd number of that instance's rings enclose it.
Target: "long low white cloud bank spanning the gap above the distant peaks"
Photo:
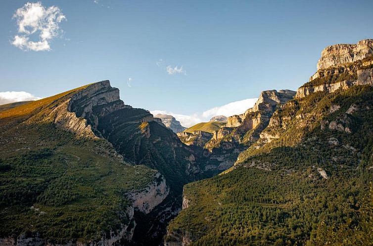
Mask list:
[[[212,117],[217,116],[217,115],[225,115],[229,117],[232,115],[242,114],[247,109],[253,107],[257,100],[258,98],[244,99],[244,100],[228,103],[223,106],[214,107],[202,113],[195,113],[192,115],[182,115],[182,114],[178,114],[175,112],[169,112],[165,110],[153,110],[153,111],[150,111],[150,113],[152,113],[153,115],[156,115],[156,114],[172,115],[176,118],[176,120],[180,121],[180,123],[183,126],[190,127],[200,122],[208,122]]]

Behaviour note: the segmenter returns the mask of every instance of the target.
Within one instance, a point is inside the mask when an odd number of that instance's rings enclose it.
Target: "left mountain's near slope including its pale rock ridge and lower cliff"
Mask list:
[[[134,211],[149,213],[167,197],[159,172],[124,162],[69,112],[73,98],[97,85],[0,113],[0,245],[124,243]]]

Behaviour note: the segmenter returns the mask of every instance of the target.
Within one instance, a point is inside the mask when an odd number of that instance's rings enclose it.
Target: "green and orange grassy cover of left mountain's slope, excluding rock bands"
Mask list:
[[[106,140],[23,123],[85,87],[0,113],[0,237],[39,232],[51,242],[88,242],[130,223],[125,194],[144,189],[156,171],[123,163]]]

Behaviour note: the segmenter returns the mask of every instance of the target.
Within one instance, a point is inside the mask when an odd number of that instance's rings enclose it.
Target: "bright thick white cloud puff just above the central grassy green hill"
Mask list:
[[[213,117],[217,115],[225,115],[225,116],[232,116],[232,115],[239,115],[245,112],[247,109],[252,108],[258,98],[249,98],[244,99],[236,102],[231,102],[226,105],[215,107],[209,110],[206,110],[202,113],[202,116]]]

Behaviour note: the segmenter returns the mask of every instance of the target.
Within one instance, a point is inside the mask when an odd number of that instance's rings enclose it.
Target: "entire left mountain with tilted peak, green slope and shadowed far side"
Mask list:
[[[2,111],[0,129],[0,245],[159,245],[204,175],[109,81]]]

